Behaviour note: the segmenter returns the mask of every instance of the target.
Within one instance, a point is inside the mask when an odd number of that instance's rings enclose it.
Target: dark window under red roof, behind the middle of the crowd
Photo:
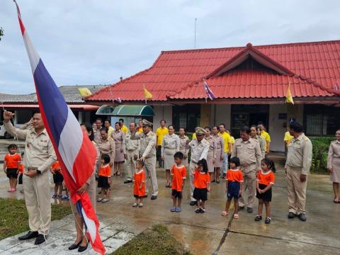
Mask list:
[[[200,105],[173,106],[172,111],[175,130],[183,127],[188,132],[195,132],[195,128],[200,125]]]

